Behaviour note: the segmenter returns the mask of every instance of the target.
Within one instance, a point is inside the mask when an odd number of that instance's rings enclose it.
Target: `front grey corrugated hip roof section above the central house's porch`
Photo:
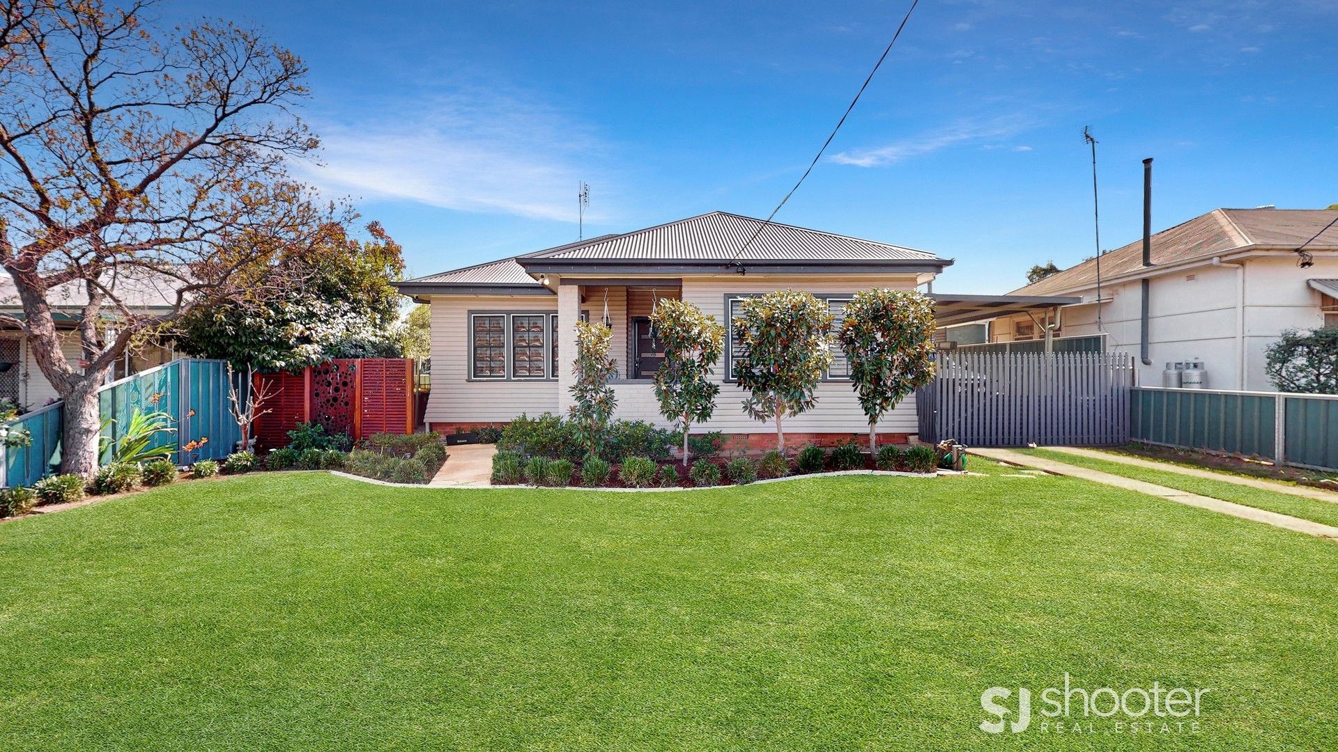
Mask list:
[[[759,226],[761,231],[757,233]],[[749,244],[753,233],[757,237]],[[747,250],[740,253],[744,245]],[[619,236],[550,248],[520,258],[887,261],[934,260],[933,253],[836,236],[727,211],[712,211]]]

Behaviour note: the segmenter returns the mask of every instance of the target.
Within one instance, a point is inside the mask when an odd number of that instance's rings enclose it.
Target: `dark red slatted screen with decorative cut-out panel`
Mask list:
[[[286,446],[298,423],[318,423],[328,434],[353,440],[369,434],[413,432],[413,360],[407,357],[340,359],[297,373],[257,373],[257,389],[269,397],[257,412],[256,444]]]

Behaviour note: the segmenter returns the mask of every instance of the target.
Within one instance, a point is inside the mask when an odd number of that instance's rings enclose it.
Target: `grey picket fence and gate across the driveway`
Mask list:
[[[971,447],[1123,444],[1133,359],[1115,352],[941,352],[917,393],[926,442]]]

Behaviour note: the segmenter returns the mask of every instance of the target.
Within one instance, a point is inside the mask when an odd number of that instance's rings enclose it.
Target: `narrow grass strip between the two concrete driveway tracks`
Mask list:
[[[1089,470],[1098,470],[1101,472],[1109,472],[1112,475],[1123,475],[1125,478],[1133,478],[1135,480],[1145,480],[1148,483],[1156,483],[1157,486],[1165,486],[1167,488],[1177,488],[1180,491],[1188,491],[1191,494],[1212,496],[1214,499],[1222,499],[1224,502],[1235,502],[1238,504],[1246,504],[1248,507],[1275,511],[1278,514],[1299,516],[1301,519],[1310,519],[1313,522],[1322,522],[1325,525],[1338,526],[1338,503],[1321,502],[1318,499],[1307,499],[1305,496],[1287,494],[1282,490],[1267,491],[1263,488],[1252,488],[1250,486],[1240,486],[1239,483],[1232,483],[1230,480],[1196,478],[1193,475],[1185,475],[1183,472],[1176,472],[1173,470],[1153,470],[1151,467],[1124,464],[1116,459],[1109,459],[1109,460],[1094,459],[1089,456],[1073,455],[1069,452],[1056,452],[1052,450],[1020,450],[1020,451],[1024,454],[1036,455],[1045,459],[1053,459],[1056,462],[1062,462],[1077,467],[1086,467]],[[1211,470],[1211,468],[1200,468],[1200,470]]]

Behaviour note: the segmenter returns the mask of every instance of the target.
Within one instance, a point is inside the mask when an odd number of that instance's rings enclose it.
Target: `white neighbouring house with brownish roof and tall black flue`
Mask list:
[[[1278,335],[1338,326],[1338,210],[1215,209],[1149,240],[1149,265],[1141,240],[1103,254],[1100,288],[1090,258],[1013,290],[1081,301],[995,317],[983,341],[1096,336],[1137,359],[1140,384],[1199,361],[1207,388],[1274,391],[1264,351]]]

